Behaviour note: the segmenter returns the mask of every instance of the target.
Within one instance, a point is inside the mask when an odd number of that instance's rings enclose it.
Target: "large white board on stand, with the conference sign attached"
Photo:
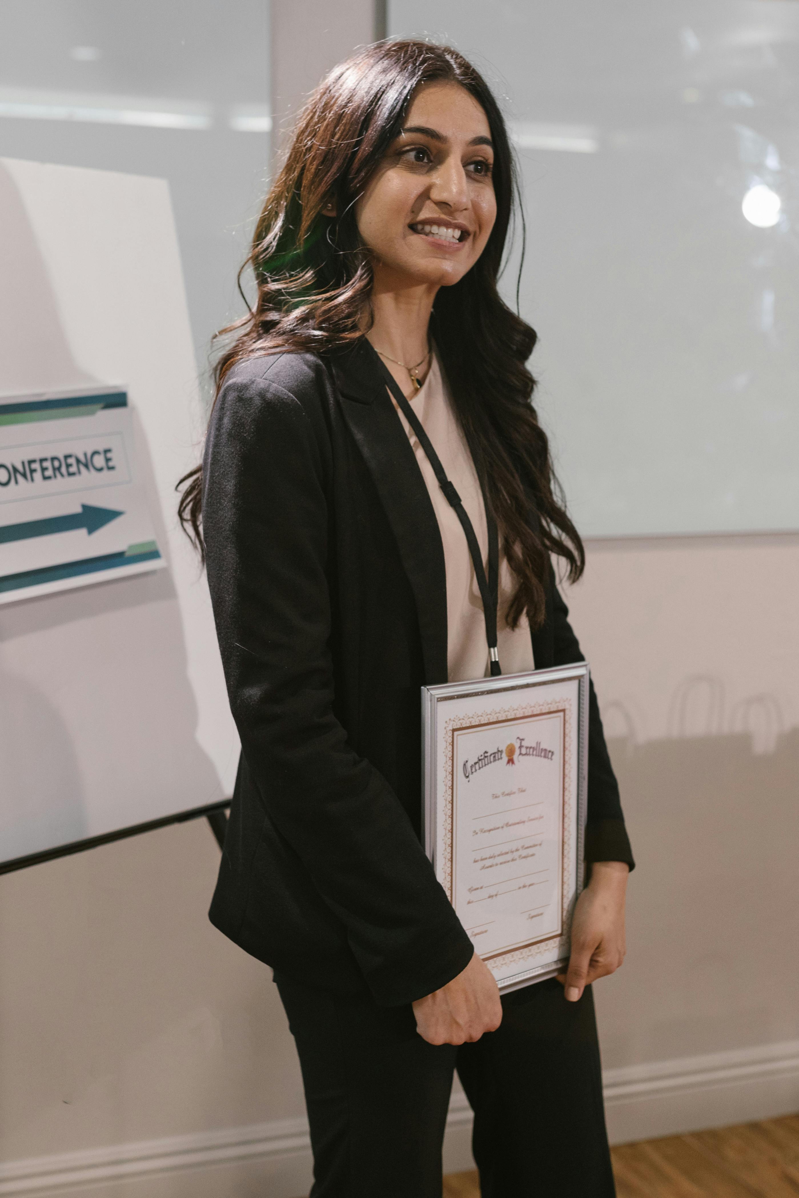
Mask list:
[[[0,159],[0,866],[231,793],[204,425],[167,183]]]

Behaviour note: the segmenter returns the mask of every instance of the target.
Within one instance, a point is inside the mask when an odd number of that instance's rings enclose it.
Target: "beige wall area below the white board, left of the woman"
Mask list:
[[[302,1115],[270,970],[207,921],[218,864],[196,821],[0,877],[0,1161]]]

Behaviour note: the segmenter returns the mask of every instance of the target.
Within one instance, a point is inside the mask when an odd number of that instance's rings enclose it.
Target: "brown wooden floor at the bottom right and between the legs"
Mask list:
[[[612,1149],[618,1198],[798,1198],[799,1115]],[[444,1198],[479,1198],[450,1173]]]

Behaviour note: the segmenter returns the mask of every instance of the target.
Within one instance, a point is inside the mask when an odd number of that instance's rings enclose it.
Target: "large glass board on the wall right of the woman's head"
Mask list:
[[[420,31],[513,121],[521,307],[581,531],[795,528],[799,4],[391,0],[389,32]]]

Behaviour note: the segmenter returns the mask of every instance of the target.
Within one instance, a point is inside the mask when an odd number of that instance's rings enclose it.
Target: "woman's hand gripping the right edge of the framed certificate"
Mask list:
[[[591,881],[577,898],[571,921],[569,969],[557,980],[570,1003],[597,978],[616,973],[624,961],[624,897],[629,869],[624,861],[594,861]]]

